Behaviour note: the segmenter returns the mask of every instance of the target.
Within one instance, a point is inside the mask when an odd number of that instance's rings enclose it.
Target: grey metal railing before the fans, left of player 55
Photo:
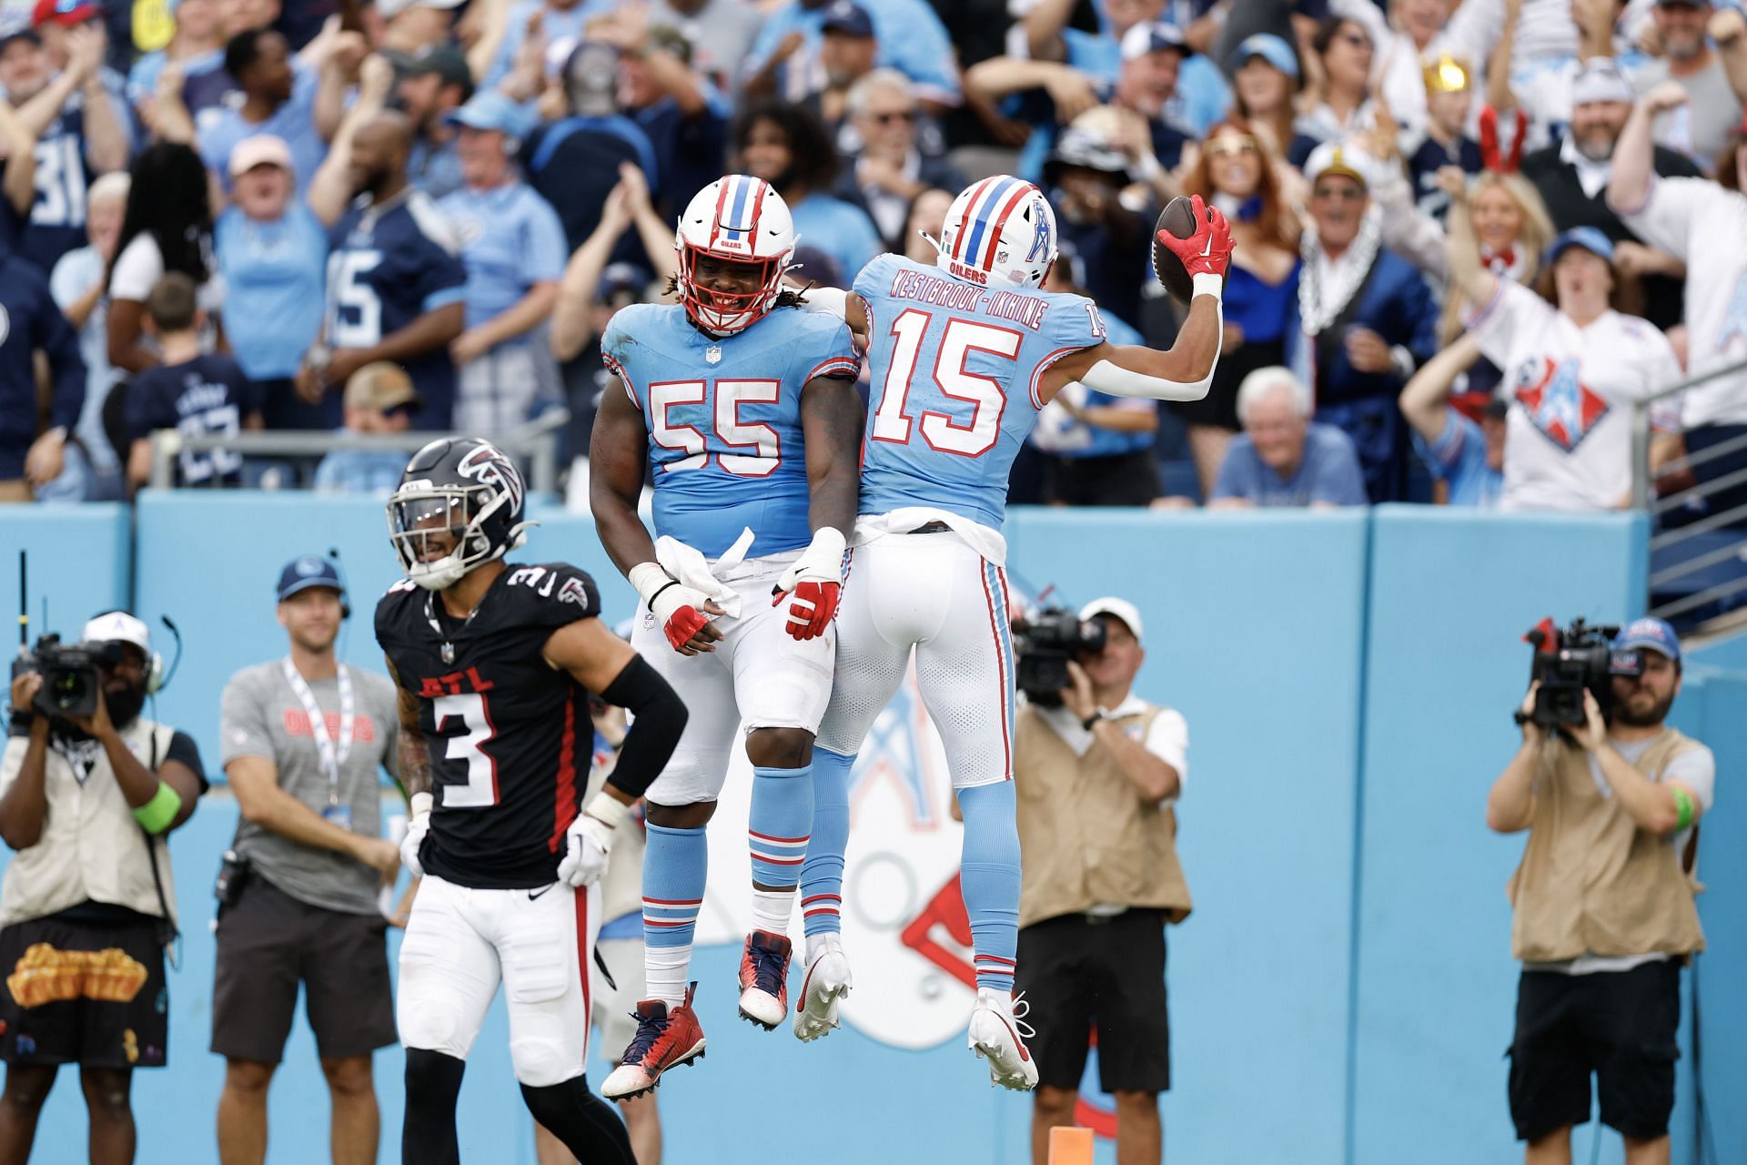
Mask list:
[[[540,414],[536,421],[493,437],[491,444],[528,465],[528,487],[531,491],[554,493],[559,472],[557,442],[566,424],[570,424],[570,409],[552,409]],[[234,437],[183,437],[176,430],[157,430],[152,433],[152,477],[148,484],[154,489],[173,487],[176,484],[176,458],[183,452],[229,451],[245,458],[302,458],[311,461],[335,451],[404,452],[412,456],[437,437],[444,437],[444,433],[262,430]]]

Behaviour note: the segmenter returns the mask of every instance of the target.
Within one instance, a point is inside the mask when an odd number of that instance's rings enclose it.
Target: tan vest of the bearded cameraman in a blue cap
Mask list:
[[[1698,748],[1668,728],[1639,756],[1646,777]],[[1506,894],[1515,908],[1511,954],[1523,962],[1562,962],[1583,954],[1684,955],[1705,948],[1695,896],[1703,889],[1681,868],[1667,837],[1640,830],[1604,796],[1588,753],[1564,741],[1541,749],[1534,821]]]

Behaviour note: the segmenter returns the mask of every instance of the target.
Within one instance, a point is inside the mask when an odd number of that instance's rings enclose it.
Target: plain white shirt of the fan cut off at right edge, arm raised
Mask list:
[[[1693,376],[1747,358],[1747,197],[1709,178],[1651,176],[1644,206],[1619,220],[1686,262],[1686,363]],[[1747,376],[1682,393],[1681,421],[1747,424]]]

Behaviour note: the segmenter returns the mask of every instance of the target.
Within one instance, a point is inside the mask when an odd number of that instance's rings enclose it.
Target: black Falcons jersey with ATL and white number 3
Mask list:
[[[554,631],[601,613],[575,566],[508,564],[473,613],[402,578],[376,604],[376,641],[419,697],[437,803],[419,863],[459,886],[549,886],[589,779],[589,693],[545,662]]]

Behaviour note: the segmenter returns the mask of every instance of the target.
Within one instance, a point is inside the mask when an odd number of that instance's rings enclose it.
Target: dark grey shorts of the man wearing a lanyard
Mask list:
[[[395,1043],[388,922],[297,901],[259,873],[218,915],[211,1050],[278,1064],[297,1011],[297,983],[323,1060]]]

